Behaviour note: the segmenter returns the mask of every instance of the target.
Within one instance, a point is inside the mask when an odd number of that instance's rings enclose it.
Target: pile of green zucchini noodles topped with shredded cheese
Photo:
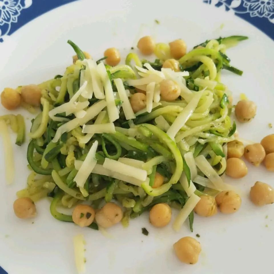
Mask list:
[[[181,210],[174,229],[188,218],[192,230],[199,197],[231,189],[222,174],[236,125],[221,71],[242,74],[225,52],[245,39],[206,41],[178,61],[159,43],[155,61],[131,52],[115,66],[68,41],[74,64],[38,85],[41,112],[32,120],[27,149],[31,172],[17,196],[33,202],[52,197],[51,214],[67,222],[73,216],[57,206],[84,202],[96,210],[115,200],[124,226],[165,203]],[[163,66],[170,59],[177,69]],[[163,81],[179,88],[176,98],[164,96]],[[88,226],[98,229],[95,220]]]

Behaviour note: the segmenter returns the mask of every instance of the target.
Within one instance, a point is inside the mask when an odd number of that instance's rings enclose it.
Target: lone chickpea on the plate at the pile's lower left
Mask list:
[[[36,207],[30,198],[18,198],[13,203],[13,210],[18,218],[26,219],[36,215]]]

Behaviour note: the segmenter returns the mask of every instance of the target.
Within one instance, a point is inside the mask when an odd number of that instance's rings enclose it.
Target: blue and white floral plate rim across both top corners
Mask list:
[[[0,43],[5,35],[61,5],[77,0],[0,0]],[[274,40],[274,0],[202,0],[232,11]]]

